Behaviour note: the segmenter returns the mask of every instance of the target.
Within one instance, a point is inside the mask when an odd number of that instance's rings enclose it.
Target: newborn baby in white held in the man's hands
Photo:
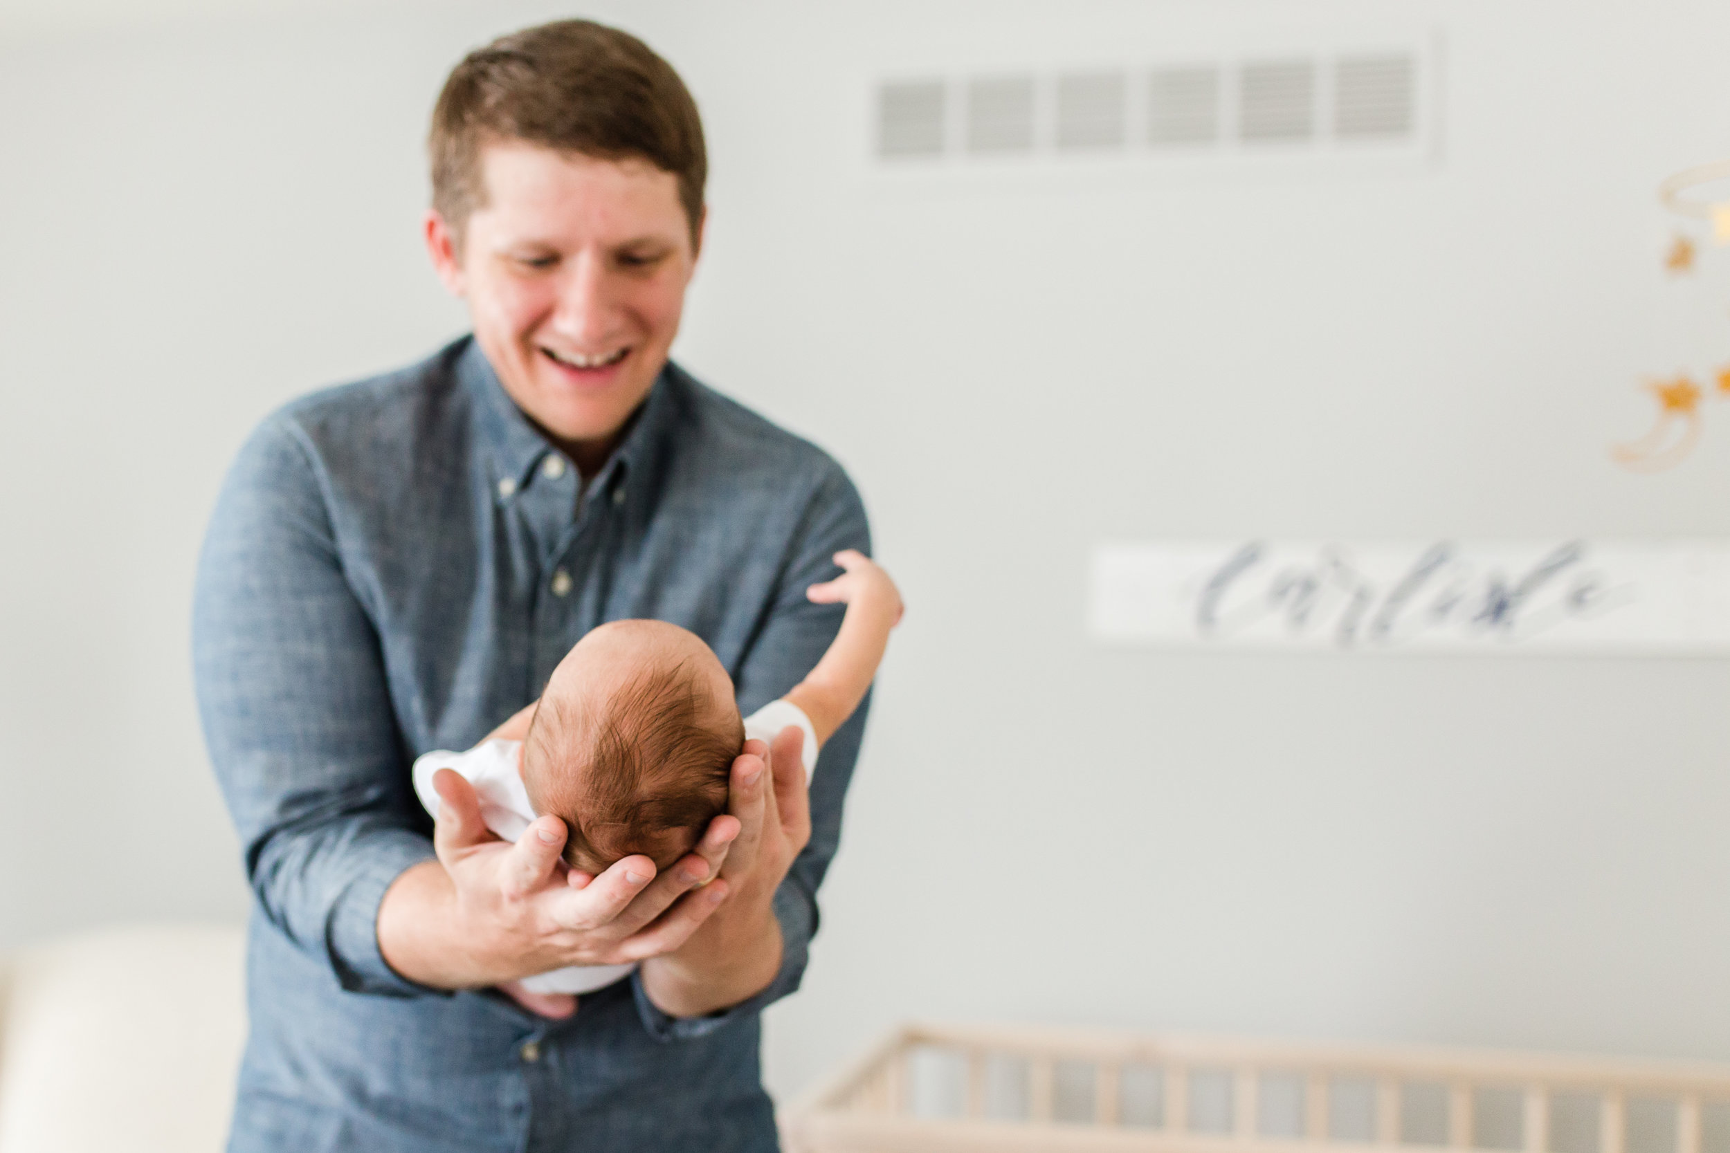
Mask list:
[[[694,633],[664,621],[602,624],[554,669],[529,707],[524,740],[419,757],[420,804],[436,814],[432,774],[455,769],[474,785],[486,826],[505,840],[550,812],[569,830],[564,859],[576,871],[595,876],[631,854],[670,868],[727,811],[728,774],[747,738],[772,742],[798,726],[810,776],[822,743],[870,688],[889,629],[901,619],[901,596],[863,553],[836,553],[836,564],[843,576],[813,584],[806,596],[844,602],[841,631],[780,700],[740,719],[727,669]],[[590,992],[633,968],[573,965],[519,984],[529,992]]]

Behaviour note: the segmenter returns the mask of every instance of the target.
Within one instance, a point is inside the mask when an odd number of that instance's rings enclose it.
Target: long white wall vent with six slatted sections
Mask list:
[[[1287,43],[1109,69],[903,74],[875,86],[875,157],[917,173],[1436,156],[1434,36],[1332,50]]]

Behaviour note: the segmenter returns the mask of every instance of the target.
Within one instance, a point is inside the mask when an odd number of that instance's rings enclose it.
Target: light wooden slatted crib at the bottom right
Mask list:
[[[907,1025],[791,1153],[1730,1153],[1730,1065]]]

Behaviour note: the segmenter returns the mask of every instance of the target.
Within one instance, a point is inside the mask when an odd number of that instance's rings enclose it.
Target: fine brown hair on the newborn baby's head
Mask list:
[[[535,812],[566,823],[564,859],[600,873],[642,852],[668,868],[727,809],[744,723],[721,710],[689,662],[649,667],[581,716],[541,697],[522,743]]]

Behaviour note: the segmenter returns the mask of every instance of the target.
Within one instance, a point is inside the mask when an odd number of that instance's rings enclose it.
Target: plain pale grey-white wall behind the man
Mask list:
[[[185,657],[204,517],[265,411],[460,330],[424,118],[462,50],[566,12],[170,9],[0,16],[0,944],[240,916]],[[1730,1058],[1730,666],[1104,650],[1081,600],[1102,538],[1730,534],[1730,427],[1657,477],[1605,453],[1699,353],[1652,188],[1730,145],[1730,9],[593,10],[708,119],[676,354],[853,470],[910,603],[775,1089],[915,1015]],[[862,161],[884,73],[1389,19],[1446,45],[1429,168]]]

